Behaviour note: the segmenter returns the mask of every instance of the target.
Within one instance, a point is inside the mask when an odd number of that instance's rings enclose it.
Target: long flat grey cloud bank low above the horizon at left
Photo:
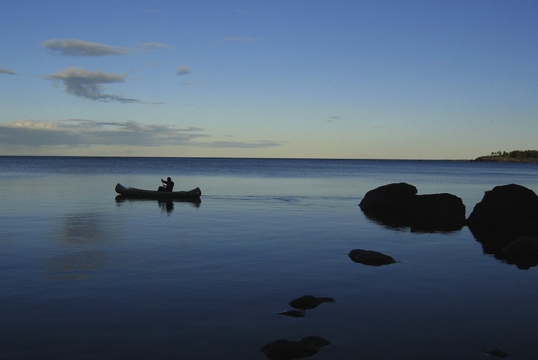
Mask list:
[[[208,137],[201,128],[178,128],[168,125],[143,124],[136,121],[17,121],[0,124],[0,145],[34,147],[90,147],[119,145],[158,147],[191,144]]]

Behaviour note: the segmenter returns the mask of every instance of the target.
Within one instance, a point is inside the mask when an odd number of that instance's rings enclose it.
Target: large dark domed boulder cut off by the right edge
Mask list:
[[[521,185],[495,186],[475,205],[467,225],[538,229],[538,196]]]

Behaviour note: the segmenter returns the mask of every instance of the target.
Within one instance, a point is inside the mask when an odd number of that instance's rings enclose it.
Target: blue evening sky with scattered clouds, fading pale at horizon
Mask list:
[[[535,0],[8,0],[0,156],[537,149]]]

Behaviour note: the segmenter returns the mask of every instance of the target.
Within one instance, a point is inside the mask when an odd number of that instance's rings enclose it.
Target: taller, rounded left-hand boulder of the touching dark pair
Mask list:
[[[368,191],[359,206],[367,209],[405,209],[411,203],[417,190],[408,183],[389,183]]]

